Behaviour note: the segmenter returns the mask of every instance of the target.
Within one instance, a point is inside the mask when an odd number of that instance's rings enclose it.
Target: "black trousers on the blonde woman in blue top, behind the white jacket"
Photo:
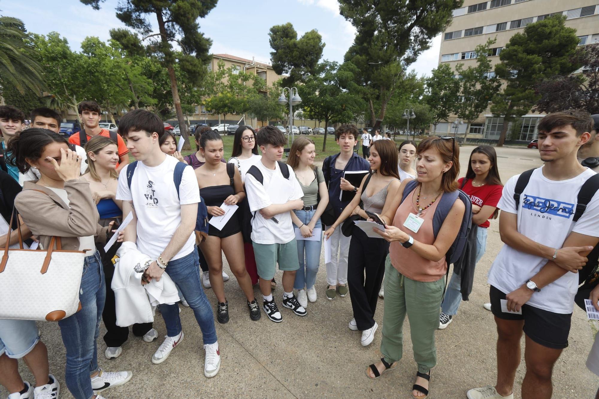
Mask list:
[[[109,347],[121,346],[129,336],[129,327],[119,327],[116,325],[116,303],[114,301],[114,291],[110,288],[114,276],[112,258],[119,247],[120,243],[115,243],[108,250],[108,253],[104,253],[104,249],[98,246],[98,250],[101,251],[102,255],[104,279],[106,281],[106,302],[102,311],[102,320],[107,330],[106,334],[104,334],[104,342]],[[133,335],[136,337],[143,337],[150,330],[152,330],[152,323],[133,325]]]

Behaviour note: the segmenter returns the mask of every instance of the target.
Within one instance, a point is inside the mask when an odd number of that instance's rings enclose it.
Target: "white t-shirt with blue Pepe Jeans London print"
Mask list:
[[[518,214],[518,232],[552,248],[561,248],[570,231],[597,237],[599,194],[595,194],[576,223],[572,220],[580,187],[594,174],[587,168],[573,179],[555,181],[543,176],[543,167],[537,168],[520,195],[518,210],[513,195],[520,175],[513,176],[504,186],[497,207],[502,212]],[[537,274],[546,263],[545,258],[504,245],[491,266],[488,282],[509,294]],[[527,304],[553,313],[572,313],[577,288],[578,274],[568,272],[541,292],[535,292]]]

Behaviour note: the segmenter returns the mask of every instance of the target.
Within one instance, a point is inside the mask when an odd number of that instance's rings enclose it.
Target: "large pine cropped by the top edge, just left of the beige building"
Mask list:
[[[356,83],[370,108],[371,125],[379,128],[407,66],[430,47],[432,37],[449,26],[462,0],[340,0],[340,13],[357,34],[344,61],[360,74]],[[375,107],[375,104],[378,104]]]

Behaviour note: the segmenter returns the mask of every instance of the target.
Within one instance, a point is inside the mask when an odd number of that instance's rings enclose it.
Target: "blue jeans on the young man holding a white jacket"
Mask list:
[[[168,262],[168,276],[179,287],[189,307],[193,310],[193,315],[202,330],[204,344],[213,344],[216,342],[216,329],[214,328],[214,315],[212,307],[208,303],[208,298],[202,289],[201,278],[199,277],[199,257],[198,251],[193,248],[193,252],[183,258]],[[160,312],[167,326],[167,335],[175,337],[181,333],[181,319],[179,318],[179,305],[161,304]]]

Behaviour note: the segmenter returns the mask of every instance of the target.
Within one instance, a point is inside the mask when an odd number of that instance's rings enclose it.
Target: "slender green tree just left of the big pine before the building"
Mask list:
[[[493,93],[497,92],[501,82],[497,76],[489,76],[491,72],[491,61],[489,61],[489,47],[495,43],[495,39],[489,39],[485,44],[476,46],[476,66],[464,69],[464,64],[456,65],[459,75],[460,92],[464,101],[455,102],[455,113],[459,118],[467,122],[464,133],[464,143],[468,138],[470,125],[478,119],[489,106]]]

